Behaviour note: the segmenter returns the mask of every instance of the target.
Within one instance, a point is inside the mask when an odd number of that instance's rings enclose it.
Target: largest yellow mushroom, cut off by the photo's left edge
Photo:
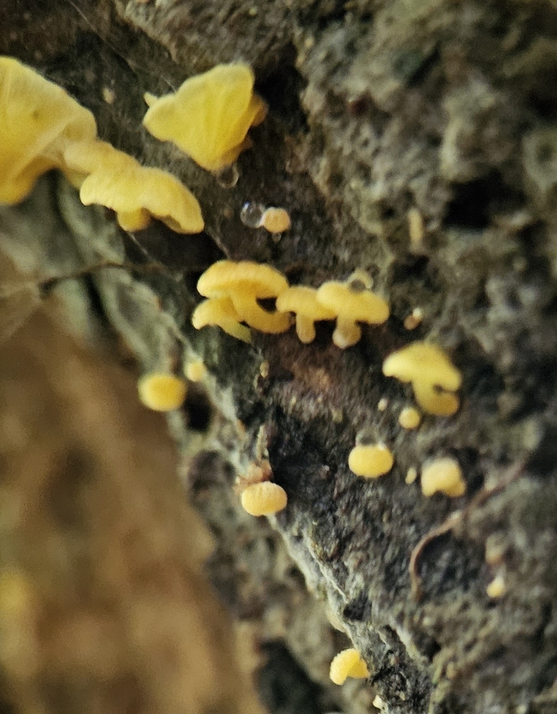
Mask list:
[[[65,169],[69,143],[96,133],[93,114],[61,87],[0,56],[0,203],[22,201],[41,174]]]

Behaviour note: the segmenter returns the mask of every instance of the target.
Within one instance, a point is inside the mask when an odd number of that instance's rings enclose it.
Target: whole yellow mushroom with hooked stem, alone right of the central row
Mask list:
[[[459,398],[452,392],[461,386],[461,373],[436,345],[414,342],[392,353],[383,363],[383,374],[412,382],[414,396],[426,413],[451,416],[459,408]]]

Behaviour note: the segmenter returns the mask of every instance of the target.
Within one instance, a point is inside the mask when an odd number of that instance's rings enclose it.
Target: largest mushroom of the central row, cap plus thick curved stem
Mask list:
[[[218,261],[199,278],[198,291],[206,298],[228,297],[240,318],[260,332],[280,333],[290,327],[288,313],[267,312],[257,300],[276,298],[288,281],[275,268],[251,261]]]

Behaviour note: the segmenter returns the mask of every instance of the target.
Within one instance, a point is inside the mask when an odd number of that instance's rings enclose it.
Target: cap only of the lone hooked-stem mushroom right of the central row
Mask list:
[[[462,375],[437,345],[413,342],[390,354],[383,363],[383,374],[402,382],[428,382],[449,391],[456,391]]]

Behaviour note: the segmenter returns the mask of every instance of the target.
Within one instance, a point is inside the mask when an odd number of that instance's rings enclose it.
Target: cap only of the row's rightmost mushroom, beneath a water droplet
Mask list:
[[[329,281],[317,290],[317,300],[342,318],[380,325],[389,317],[389,305],[371,290],[353,291],[347,283]]]

